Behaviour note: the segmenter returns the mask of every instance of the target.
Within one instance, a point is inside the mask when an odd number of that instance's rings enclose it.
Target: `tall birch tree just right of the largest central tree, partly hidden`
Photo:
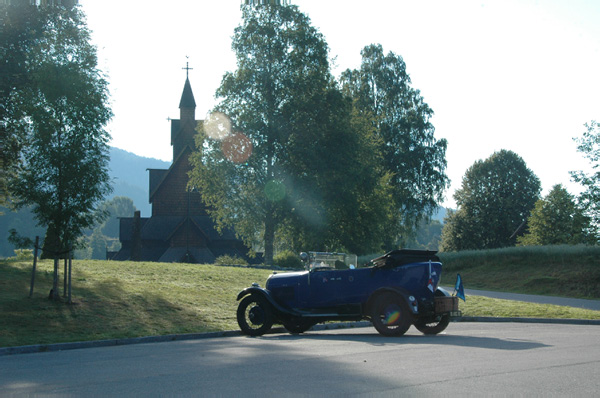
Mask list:
[[[434,137],[433,110],[419,90],[411,87],[402,57],[383,52],[379,44],[366,46],[358,70],[346,70],[341,84],[357,110],[370,115],[381,140],[384,167],[391,174],[396,208],[395,230],[386,246],[398,246],[397,237],[412,235],[419,220],[431,215],[449,184],[444,139]]]

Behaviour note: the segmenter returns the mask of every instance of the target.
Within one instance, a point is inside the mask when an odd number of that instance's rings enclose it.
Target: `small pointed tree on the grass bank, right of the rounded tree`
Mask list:
[[[518,238],[522,246],[595,243],[590,219],[560,184],[535,203],[527,226],[528,232]]]

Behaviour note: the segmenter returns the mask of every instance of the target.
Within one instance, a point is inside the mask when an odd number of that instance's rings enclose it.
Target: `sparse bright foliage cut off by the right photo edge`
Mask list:
[[[571,177],[585,187],[579,200],[592,219],[594,228],[600,226],[600,123],[591,121],[585,124],[583,136],[576,138],[577,150],[590,162],[592,171],[572,171]]]

